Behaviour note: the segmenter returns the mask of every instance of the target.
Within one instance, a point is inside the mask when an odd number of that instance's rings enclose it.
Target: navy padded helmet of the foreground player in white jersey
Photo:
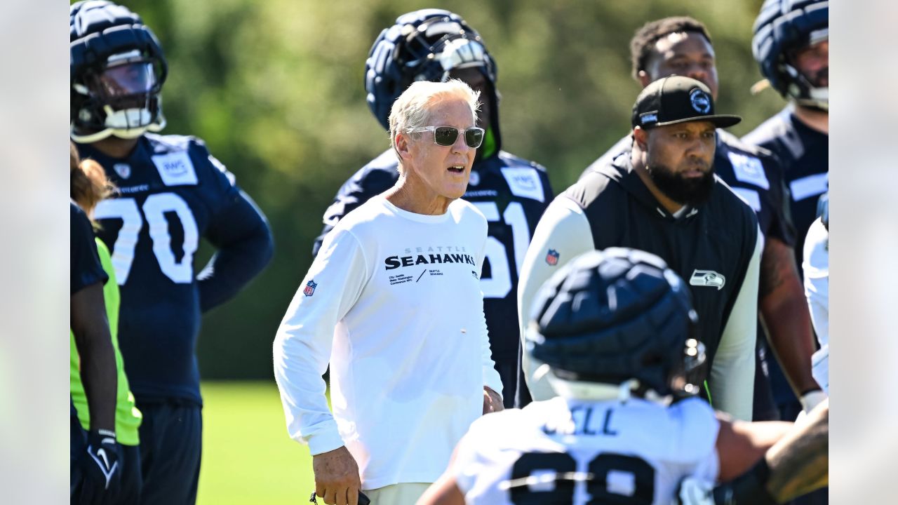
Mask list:
[[[650,399],[686,396],[704,378],[697,322],[689,289],[664,260],[611,247],[582,254],[546,281],[526,352],[548,365],[556,389],[560,379]]]

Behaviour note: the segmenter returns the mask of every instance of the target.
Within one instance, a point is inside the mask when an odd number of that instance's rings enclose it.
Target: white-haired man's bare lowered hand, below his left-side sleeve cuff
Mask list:
[[[358,505],[362,481],[346,446],[312,456],[315,494],[328,505]]]

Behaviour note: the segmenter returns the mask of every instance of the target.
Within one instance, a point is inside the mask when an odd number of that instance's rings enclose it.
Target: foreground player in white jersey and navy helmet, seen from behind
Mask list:
[[[700,320],[654,254],[585,253],[531,315],[524,352],[559,397],[474,421],[419,504],[671,503],[683,477],[743,474],[791,427],[730,421],[691,397]]]

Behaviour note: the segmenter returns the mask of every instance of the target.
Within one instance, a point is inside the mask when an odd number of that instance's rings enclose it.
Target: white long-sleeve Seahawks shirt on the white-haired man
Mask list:
[[[291,438],[313,455],[346,445],[365,489],[436,480],[483,386],[502,391],[480,291],[486,237],[461,199],[425,216],[374,197],[340,220],[274,342]]]

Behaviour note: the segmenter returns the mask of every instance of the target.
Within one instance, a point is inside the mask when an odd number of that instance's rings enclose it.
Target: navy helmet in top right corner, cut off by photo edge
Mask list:
[[[766,0],[754,22],[752,52],[761,73],[784,97],[829,110],[829,88],[814,85],[789,62],[791,51],[829,40],[828,0]]]

